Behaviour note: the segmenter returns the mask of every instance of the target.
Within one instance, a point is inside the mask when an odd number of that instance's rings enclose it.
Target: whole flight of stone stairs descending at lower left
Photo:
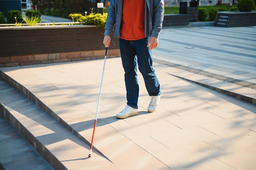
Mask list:
[[[1,170],[82,170],[87,166],[90,170],[117,169],[96,148],[93,159],[88,159],[90,143],[86,139],[25,87],[4,73],[1,77]]]

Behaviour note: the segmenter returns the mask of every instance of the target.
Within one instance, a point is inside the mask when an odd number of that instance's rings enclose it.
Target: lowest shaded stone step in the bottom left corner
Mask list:
[[[54,170],[0,114],[1,170]]]

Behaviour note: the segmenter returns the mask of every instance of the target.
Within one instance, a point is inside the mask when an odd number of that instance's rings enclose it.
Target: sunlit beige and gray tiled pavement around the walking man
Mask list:
[[[95,150],[87,159],[88,144],[70,137],[45,147],[70,170],[255,170],[256,27],[162,29],[153,56],[160,106],[146,111],[150,97],[139,75],[139,114],[127,119],[115,117],[126,105],[121,59],[106,60],[94,147],[108,159]],[[0,70],[90,142],[102,66],[91,60]],[[34,123],[27,128],[38,137],[58,135]]]

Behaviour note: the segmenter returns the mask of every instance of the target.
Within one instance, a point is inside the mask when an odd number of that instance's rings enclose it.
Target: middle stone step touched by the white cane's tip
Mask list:
[[[111,161],[97,151],[94,151],[93,159],[88,159],[90,150],[88,143],[53,119],[3,79],[0,79],[0,113],[56,170],[81,170],[86,169],[87,166],[90,166],[91,170],[101,170],[104,167],[117,169]],[[1,142],[0,147],[4,147],[4,144],[5,142]],[[22,152],[22,150],[24,148],[17,148],[16,152]],[[6,148],[6,152],[11,152],[11,148]],[[1,155],[2,153],[1,151]],[[2,157],[5,157],[5,160],[13,160],[11,155]],[[29,164],[29,159],[26,161]],[[4,162],[7,161],[0,160],[0,162],[4,166]]]

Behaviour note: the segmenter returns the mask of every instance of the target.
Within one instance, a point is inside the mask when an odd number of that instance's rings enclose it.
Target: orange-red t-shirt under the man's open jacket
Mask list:
[[[145,0],[124,0],[121,37],[139,40],[145,37]]]

